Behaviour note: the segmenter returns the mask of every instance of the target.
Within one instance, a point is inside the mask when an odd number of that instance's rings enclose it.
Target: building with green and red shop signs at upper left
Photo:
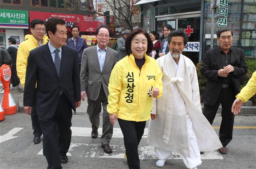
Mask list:
[[[68,38],[74,25],[80,27],[80,35],[92,35],[102,22],[95,20],[94,14],[90,16],[89,12],[82,10],[88,5],[76,0],[0,0],[0,45],[8,48],[10,37],[20,44],[24,36],[30,34],[32,20],[46,21],[52,17],[66,21]]]

